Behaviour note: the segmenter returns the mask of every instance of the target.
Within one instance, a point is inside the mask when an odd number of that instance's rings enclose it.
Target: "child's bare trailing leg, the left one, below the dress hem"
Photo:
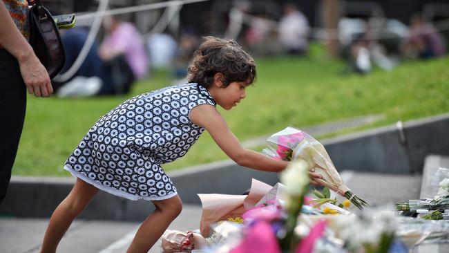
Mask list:
[[[77,178],[70,194],[53,212],[42,243],[41,253],[56,252],[57,245],[73,220],[98,192],[93,185]]]

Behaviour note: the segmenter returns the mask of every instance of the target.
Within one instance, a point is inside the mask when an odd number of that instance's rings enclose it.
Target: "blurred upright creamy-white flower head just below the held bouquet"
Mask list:
[[[285,185],[289,196],[301,196],[309,183],[309,164],[304,160],[296,160],[280,173],[280,182]]]

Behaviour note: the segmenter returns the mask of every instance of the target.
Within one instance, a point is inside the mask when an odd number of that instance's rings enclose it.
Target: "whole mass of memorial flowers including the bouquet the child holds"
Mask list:
[[[167,230],[162,236],[163,252],[405,253],[430,238],[447,241],[449,223],[428,220],[445,218],[442,211],[449,209],[449,194],[398,203],[400,212],[362,209],[367,203],[352,192],[347,194],[350,190],[323,145],[307,133],[287,128],[271,142],[281,145],[271,145],[265,152],[291,161],[279,174],[280,182],[271,186],[253,179],[247,195],[198,194],[200,229]],[[327,183],[321,191],[309,190],[311,169],[320,171]],[[332,197],[331,190],[347,199]],[[362,210],[355,214],[352,207]],[[417,208],[432,212],[419,219],[398,215]]]

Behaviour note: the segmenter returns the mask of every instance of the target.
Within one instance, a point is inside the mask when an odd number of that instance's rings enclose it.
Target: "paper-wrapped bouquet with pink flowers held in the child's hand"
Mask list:
[[[287,127],[271,135],[267,142],[268,146],[263,152],[268,156],[285,161],[304,160],[310,171],[323,176],[323,179],[314,178],[316,182],[347,198],[359,209],[368,205],[343,183],[323,144],[312,136],[294,127]]]

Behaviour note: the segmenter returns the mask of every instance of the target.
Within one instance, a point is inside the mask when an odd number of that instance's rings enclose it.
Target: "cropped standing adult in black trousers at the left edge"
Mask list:
[[[26,111],[26,90],[52,94],[50,77],[28,44],[28,3],[0,1],[0,205],[8,191]]]

